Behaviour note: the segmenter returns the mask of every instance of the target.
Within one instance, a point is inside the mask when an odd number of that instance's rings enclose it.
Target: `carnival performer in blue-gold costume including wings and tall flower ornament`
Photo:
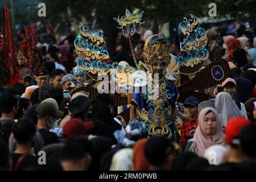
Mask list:
[[[71,95],[84,90],[93,99],[95,92],[112,93],[115,106],[130,106],[122,112],[130,113],[130,122],[136,119],[146,123],[148,137],[163,135],[178,142],[182,119],[175,114],[176,102],[183,103],[189,96],[195,96],[200,101],[209,100],[208,94],[196,90],[210,88],[224,81],[229,75],[229,66],[221,61],[214,61],[203,67],[209,56],[205,48],[207,34],[199,27],[199,19],[194,15],[189,20],[184,18],[179,24],[179,57],[171,55],[170,40],[159,32],[146,40],[144,61],[137,62],[131,36],[140,31],[140,26],[144,23],[141,21],[142,14],[143,11],[132,14],[126,10],[124,16],[114,18],[118,28],[129,39],[136,68],[106,63],[104,60],[110,58],[103,46],[103,31],[82,24],[79,29],[81,38],[77,38],[74,43],[76,53],[80,56],[77,67],[86,71],[87,76],[97,82],[97,89],[85,86],[73,90]]]

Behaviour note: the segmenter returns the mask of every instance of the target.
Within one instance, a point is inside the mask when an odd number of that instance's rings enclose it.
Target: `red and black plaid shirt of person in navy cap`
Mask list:
[[[185,144],[188,141],[188,135],[192,130],[195,130],[198,125],[197,118],[192,120],[188,118],[180,127],[180,151],[183,150]]]

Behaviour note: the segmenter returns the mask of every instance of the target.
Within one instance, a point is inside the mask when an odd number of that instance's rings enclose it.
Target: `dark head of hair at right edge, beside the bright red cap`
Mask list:
[[[256,126],[247,125],[240,131],[240,140],[243,154],[256,158]]]

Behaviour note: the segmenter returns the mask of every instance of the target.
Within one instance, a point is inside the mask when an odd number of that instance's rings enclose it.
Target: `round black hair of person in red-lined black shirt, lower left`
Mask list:
[[[35,136],[36,126],[30,119],[19,119],[13,126],[13,134],[17,143],[27,144]]]

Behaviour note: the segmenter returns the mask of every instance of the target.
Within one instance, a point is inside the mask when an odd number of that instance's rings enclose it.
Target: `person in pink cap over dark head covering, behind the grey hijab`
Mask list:
[[[223,92],[229,93],[230,96],[232,97],[232,100],[234,103],[236,103],[238,109],[241,111],[243,116],[247,119],[247,113],[245,109],[245,105],[242,104],[242,102],[236,101],[235,100],[235,94],[237,92],[237,83],[236,80],[232,78],[226,78],[224,82],[222,82],[222,90]]]

